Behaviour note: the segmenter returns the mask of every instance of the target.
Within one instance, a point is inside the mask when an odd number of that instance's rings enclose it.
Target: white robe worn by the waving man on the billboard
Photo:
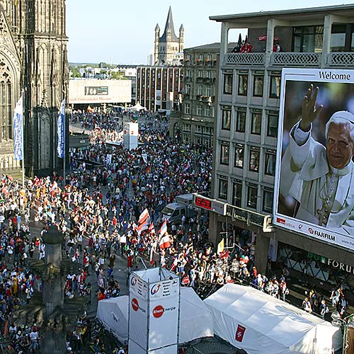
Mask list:
[[[291,195],[300,202],[295,216],[313,224],[319,224],[318,210],[321,210],[326,179],[330,171],[338,174],[338,187],[326,228],[333,232],[354,237],[354,164],[344,169],[333,169],[326,157],[326,147],[311,136],[299,146],[290,132],[290,144],[282,158],[280,193]]]

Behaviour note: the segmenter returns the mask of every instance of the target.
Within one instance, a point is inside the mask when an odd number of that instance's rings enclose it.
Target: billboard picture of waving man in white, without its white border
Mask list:
[[[289,81],[278,213],[354,237],[353,84]]]

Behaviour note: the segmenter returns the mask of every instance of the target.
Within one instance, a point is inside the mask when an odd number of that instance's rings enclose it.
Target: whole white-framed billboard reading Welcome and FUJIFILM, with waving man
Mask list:
[[[273,223],[354,249],[354,71],[283,69]]]

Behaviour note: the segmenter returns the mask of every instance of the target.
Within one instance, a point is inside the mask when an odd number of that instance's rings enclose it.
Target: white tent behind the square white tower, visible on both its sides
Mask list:
[[[128,341],[128,301],[129,297],[125,295],[98,302],[97,318],[120,343]],[[210,310],[192,288],[181,287],[179,343],[212,336],[214,327]]]

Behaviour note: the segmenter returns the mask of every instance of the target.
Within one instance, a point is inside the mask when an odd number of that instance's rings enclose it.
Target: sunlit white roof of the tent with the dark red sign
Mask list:
[[[222,312],[226,321],[236,319],[246,326],[248,333],[255,331],[258,340],[268,338],[267,343],[278,343],[279,348],[298,346],[318,326],[331,335],[337,330],[328,322],[252,287],[227,284],[204,302],[209,308]]]

